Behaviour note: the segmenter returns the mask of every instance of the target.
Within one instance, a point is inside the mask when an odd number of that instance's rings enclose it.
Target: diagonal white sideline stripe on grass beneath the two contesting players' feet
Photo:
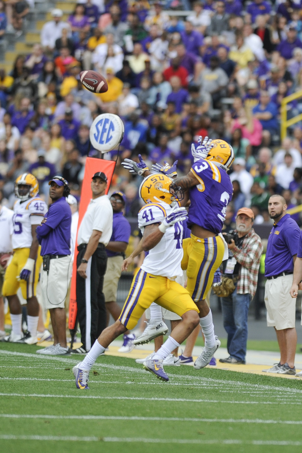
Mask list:
[[[42,360],[49,360],[49,361],[59,361],[64,364],[73,364],[76,365],[78,363],[77,360],[72,360],[67,357],[53,357],[53,356],[43,356],[42,354],[29,354],[26,352],[13,352],[13,351],[6,351],[6,350],[0,350],[0,354],[4,355],[9,355],[9,356],[19,356],[19,357],[33,357],[35,359],[42,359]],[[110,365],[106,363],[96,363],[94,365],[96,368],[105,368],[105,369],[111,369],[111,370],[119,370],[119,371],[128,371],[131,373],[144,373],[145,375],[148,374],[148,371],[145,371],[141,368],[134,368],[132,366],[119,366],[119,365]],[[250,384],[250,383],[245,383],[241,381],[231,381],[231,380],[223,380],[223,379],[213,379],[209,377],[202,377],[202,376],[189,376],[189,375],[178,375],[178,374],[173,374],[169,373],[170,377],[179,379],[180,381],[185,380],[185,381],[203,381],[205,384],[206,383],[217,383],[218,386],[221,386],[221,384],[227,384],[231,386],[239,386],[239,387],[250,387],[253,389],[259,389],[259,390],[281,390],[283,393],[288,392],[288,393],[297,393],[297,394],[302,394],[302,390],[298,389],[291,389],[288,387],[275,387],[275,386],[265,386],[265,385],[260,385],[260,384]]]

